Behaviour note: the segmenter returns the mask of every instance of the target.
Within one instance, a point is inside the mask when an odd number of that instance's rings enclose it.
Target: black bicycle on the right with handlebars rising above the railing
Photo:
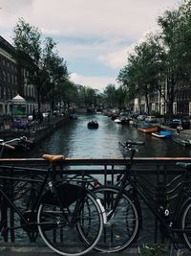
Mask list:
[[[175,212],[171,213],[167,203],[165,205],[159,204],[149,189],[132,172],[134,156],[137,151],[135,146],[141,145],[144,145],[144,143],[119,142],[119,147],[123,151],[130,152],[130,159],[126,163],[124,174],[116,186],[104,185],[94,190],[96,197],[100,198],[107,215],[107,223],[104,224],[104,232],[96,244],[96,249],[102,252],[117,252],[137,241],[142,224],[139,198],[153,212],[178,249],[176,234],[179,234],[183,238],[184,244],[191,249],[191,192],[190,189],[187,189],[191,183],[189,180],[191,165],[187,165],[182,177],[183,181],[180,183]]]

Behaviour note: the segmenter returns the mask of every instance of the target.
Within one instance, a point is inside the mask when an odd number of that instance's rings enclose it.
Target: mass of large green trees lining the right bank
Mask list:
[[[147,35],[134,48],[117,80],[128,88],[130,99],[144,97],[147,102],[151,92],[159,91],[172,115],[180,85],[191,81],[191,1],[164,12],[158,24],[161,32]]]

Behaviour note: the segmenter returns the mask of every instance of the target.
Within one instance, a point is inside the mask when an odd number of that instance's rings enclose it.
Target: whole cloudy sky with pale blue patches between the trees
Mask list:
[[[135,44],[159,30],[178,0],[0,0],[0,35],[10,43],[19,18],[56,42],[71,81],[103,91],[117,85]]]

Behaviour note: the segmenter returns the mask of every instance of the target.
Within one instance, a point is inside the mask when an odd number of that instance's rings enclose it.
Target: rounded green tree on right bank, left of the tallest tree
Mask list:
[[[147,113],[150,114],[149,95],[159,85],[159,66],[161,67],[161,48],[158,37],[147,35],[128,57],[128,64],[120,70],[117,80],[127,87],[130,99],[144,97]]]

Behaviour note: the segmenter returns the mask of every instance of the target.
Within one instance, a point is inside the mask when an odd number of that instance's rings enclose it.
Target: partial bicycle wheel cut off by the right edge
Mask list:
[[[191,229],[191,201],[188,201],[181,212],[181,228]],[[184,232],[182,234],[184,244],[191,250],[191,232]]]

